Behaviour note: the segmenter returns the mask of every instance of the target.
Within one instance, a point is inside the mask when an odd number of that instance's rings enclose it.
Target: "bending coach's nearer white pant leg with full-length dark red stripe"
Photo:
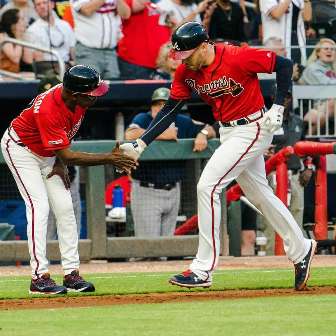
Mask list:
[[[6,136],[2,138],[1,145],[4,159],[25,201],[30,264],[32,277],[37,279],[48,272],[46,244],[49,204],[41,176],[42,160]]]

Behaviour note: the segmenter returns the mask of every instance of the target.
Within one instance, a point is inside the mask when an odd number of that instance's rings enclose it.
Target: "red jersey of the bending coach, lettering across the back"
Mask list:
[[[18,116],[12,126],[23,142],[34,153],[50,157],[54,149],[70,146],[87,108],[76,106],[70,111],[61,97],[62,84],[38,95]]]

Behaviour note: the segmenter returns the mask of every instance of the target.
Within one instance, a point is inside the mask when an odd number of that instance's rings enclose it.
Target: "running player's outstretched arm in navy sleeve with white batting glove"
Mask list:
[[[169,97],[142,136],[132,143],[121,145],[120,149],[123,149],[126,155],[133,156],[137,160],[143,150],[175,121],[184,103],[185,100]]]

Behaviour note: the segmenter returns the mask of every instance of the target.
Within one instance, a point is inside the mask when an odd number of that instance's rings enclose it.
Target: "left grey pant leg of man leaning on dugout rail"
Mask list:
[[[131,189],[131,210],[136,237],[157,237],[161,234],[164,190],[140,186],[134,180]]]

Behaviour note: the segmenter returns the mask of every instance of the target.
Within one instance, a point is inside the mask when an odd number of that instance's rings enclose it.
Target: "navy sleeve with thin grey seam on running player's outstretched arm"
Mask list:
[[[178,112],[181,110],[184,103],[185,100],[169,97],[166,104],[152,120],[140,139],[144,141],[146,145],[149,145],[162,132],[164,132],[173,121],[175,121]]]

